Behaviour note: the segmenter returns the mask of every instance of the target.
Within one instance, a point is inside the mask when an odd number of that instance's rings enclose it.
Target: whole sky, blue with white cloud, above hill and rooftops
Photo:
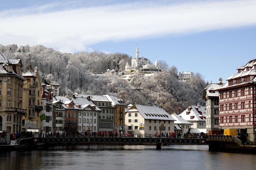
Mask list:
[[[0,44],[165,60],[205,81],[256,58],[255,0],[3,1]]]

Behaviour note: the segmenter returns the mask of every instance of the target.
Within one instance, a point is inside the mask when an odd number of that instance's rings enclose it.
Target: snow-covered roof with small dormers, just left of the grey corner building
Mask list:
[[[205,107],[204,106],[191,106],[191,110],[189,111],[188,108],[186,110],[184,110],[180,116],[185,119],[186,121],[203,121],[205,122]],[[196,108],[198,108],[198,111],[196,110]],[[199,113],[199,111],[202,112],[202,115]],[[189,114],[187,115],[187,112],[189,112]],[[193,119],[191,119],[191,116],[194,116]]]

